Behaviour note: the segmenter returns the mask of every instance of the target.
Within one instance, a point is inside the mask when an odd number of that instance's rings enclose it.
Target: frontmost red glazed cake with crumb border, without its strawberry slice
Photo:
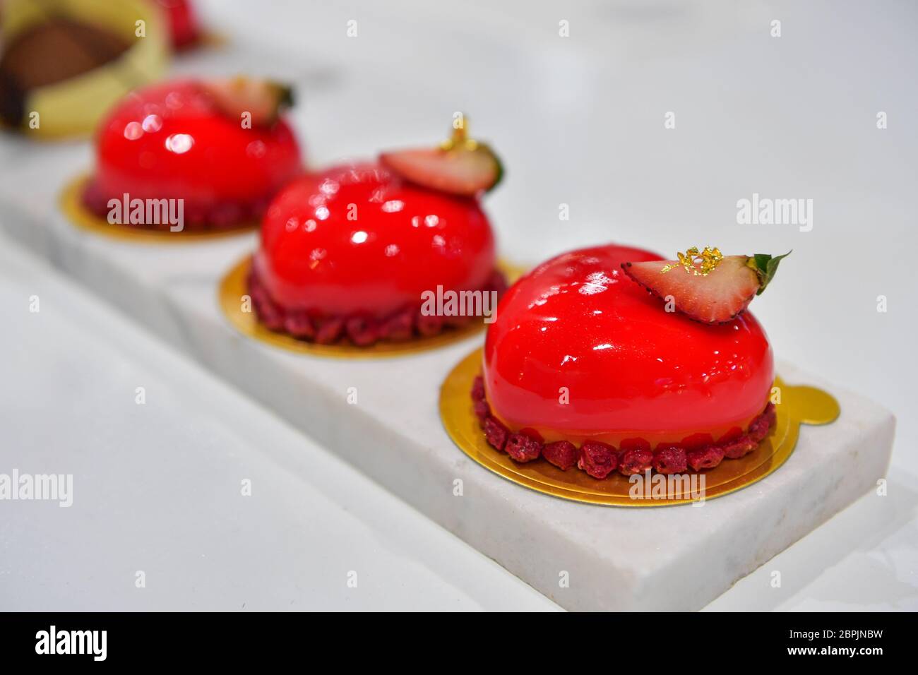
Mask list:
[[[582,249],[509,288],[472,392],[488,443],[594,478],[700,470],[756,447],[774,422],[765,332],[744,310],[724,323],[695,321],[622,269],[652,261],[659,274],[666,261],[655,253]],[[706,283],[726,279],[724,270]]]

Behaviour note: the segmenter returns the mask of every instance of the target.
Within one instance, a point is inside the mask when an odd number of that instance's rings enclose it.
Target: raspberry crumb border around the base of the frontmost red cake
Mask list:
[[[517,462],[532,462],[542,456],[563,471],[577,466],[593,478],[606,478],[615,470],[631,476],[648,469],[662,474],[677,474],[686,472],[689,467],[692,471],[713,468],[724,457],[738,459],[755,450],[777,420],[775,406],[769,402],[749,424],[746,433],[722,443],[703,444],[688,450],[676,444],[658,445],[652,451],[649,443],[638,439],[630,443],[625,441],[629,445],[621,448],[599,441],[588,441],[578,448],[570,441],[543,443],[533,430],[511,433],[491,414],[485,398],[485,381],[480,375],[472,385],[472,402],[487,444],[491,447],[506,452]]]

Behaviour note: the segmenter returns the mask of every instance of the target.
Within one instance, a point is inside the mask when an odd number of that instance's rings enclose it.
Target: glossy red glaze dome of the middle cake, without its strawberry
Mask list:
[[[421,293],[475,290],[494,270],[476,198],[403,182],[375,164],[297,179],[265,212],[255,271],[285,308],[383,317]]]

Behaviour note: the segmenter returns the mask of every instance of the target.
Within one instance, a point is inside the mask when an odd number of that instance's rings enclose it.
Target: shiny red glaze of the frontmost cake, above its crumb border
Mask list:
[[[566,253],[510,288],[485,345],[498,418],[546,439],[640,432],[655,443],[727,433],[760,413],[774,379],[765,332],[748,312],[723,326],[666,312],[621,273],[622,262],[660,259],[621,247]]]

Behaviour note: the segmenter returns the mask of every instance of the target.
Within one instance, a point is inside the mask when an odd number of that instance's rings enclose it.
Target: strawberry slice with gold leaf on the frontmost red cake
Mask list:
[[[727,255],[705,247],[678,253],[678,260],[622,263],[625,274],[658,298],[672,300],[675,309],[702,323],[733,321],[761,295],[790,253]]]

